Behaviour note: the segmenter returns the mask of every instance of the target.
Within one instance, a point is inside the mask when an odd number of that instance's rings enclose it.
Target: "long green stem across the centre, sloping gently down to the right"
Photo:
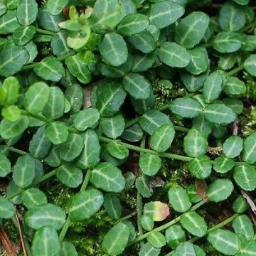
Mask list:
[[[99,139],[100,139],[101,142],[113,142],[113,139],[109,139],[109,138],[102,137],[102,136],[99,136]],[[156,152],[156,151],[151,150],[151,149],[143,149],[139,146],[134,146],[134,145],[131,145],[131,144],[127,144],[125,142],[120,142],[120,143],[122,143],[124,146],[127,146],[128,149],[132,149],[134,151],[154,154],[156,156],[161,156],[161,157],[165,157],[165,158],[169,158],[169,159],[176,159],[176,160],[181,160],[181,161],[191,161],[193,159],[192,157],[181,156],[181,155],[178,155],[178,154],[159,153],[159,152]]]

